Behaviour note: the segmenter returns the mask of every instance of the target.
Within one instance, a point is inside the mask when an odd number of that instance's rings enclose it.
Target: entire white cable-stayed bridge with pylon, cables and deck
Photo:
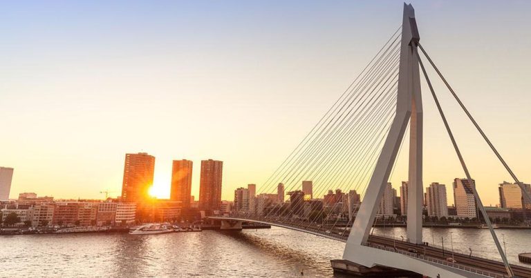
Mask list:
[[[222,228],[227,229],[241,228],[244,221],[257,222],[344,241],[343,259],[333,260],[333,268],[358,275],[531,277],[531,269],[510,265],[507,261],[423,61],[427,61],[445,83],[494,155],[521,186],[525,199],[531,202],[528,191],[523,189],[522,183],[421,46],[413,7],[404,4],[402,26],[261,185],[257,193],[263,194],[252,200],[252,209],[209,218],[221,220]],[[421,76],[427,82],[463,167],[467,190],[474,195],[476,209],[490,229],[490,244],[499,250],[501,261],[458,253],[449,257],[444,248],[422,241]],[[407,239],[398,241],[373,236],[371,229],[375,219],[385,210],[382,195],[388,194],[386,186],[389,186],[408,130]],[[304,192],[304,185],[301,190],[302,181],[315,183],[309,194]],[[339,192],[326,194],[328,188],[337,188]],[[284,192],[290,196],[289,201],[283,202]],[[313,199],[324,195],[323,200]]]

